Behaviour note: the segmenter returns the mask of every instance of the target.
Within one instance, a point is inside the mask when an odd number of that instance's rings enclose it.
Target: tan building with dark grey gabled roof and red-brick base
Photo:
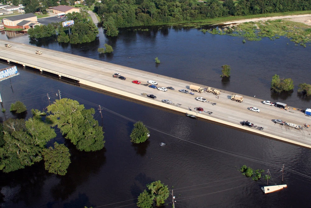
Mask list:
[[[21,14],[12,17],[3,18],[3,25],[6,28],[22,28],[28,29],[40,25],[37,16],[33,13]]]

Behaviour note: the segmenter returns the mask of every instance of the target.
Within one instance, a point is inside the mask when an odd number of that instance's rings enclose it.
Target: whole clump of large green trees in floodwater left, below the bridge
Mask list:
[[[20,112],[19,107],[14,106],[17,107],[15,111]],[[46,170],[65,175],[70,164],[69,149],[57,142],[47,148],[47,143],[56,137],[53,127],[60,129],[63,136],[80,151],[104,148],[103,130],[93,118],[94,109],[84,109],[84,105],[71,99],[56,100],[47,109],[48,115],[33,109],[33,117],[27,121],[7,119],[0,123],[2,172],[16,171],[44,159]]]

